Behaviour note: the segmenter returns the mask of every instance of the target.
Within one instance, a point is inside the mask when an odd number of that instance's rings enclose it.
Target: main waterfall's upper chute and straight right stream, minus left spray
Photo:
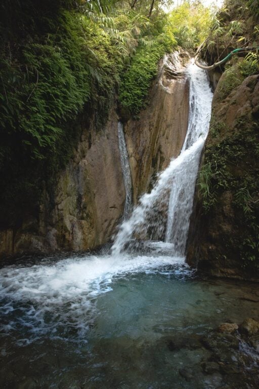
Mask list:
[[[196,65],[188,68],[190,80],[189,124],[185,142],[181,151],[184,153],[201,137],[202,146],[206,139],[212,102],[212,92],[208,85],[207,74]],[[180,174],[175,175],[171,188],[165,241],[174,244],[175,252],[184,255],[192,212],[195,182],[198,173],[200,149],[193,154],[192,164],[185,164]]]

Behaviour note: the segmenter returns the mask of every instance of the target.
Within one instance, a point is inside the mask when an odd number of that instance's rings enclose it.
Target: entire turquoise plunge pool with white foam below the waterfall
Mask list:
[[[1,387],[257,388],[255,349],[214,332],[258,318],[257,285],[200,280],[150,246],[3,267]]]

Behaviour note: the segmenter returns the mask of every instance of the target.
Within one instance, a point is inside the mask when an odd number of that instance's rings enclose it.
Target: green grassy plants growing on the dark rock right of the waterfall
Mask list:
[[[259,133],[258,122],[247,123],[242,118],[231,133],[212,118],[218,127],[217,140],[210,141],[204,154],[198,187],[204,213],[217,214],[226,191],[235,209],[235,228],[239,235],[230,237],[230,246],[238,248],[242,266],[259,268]],[[226,135],[229,134],[229,135]],[[240,238],[241,237],[241,238]],[[226,242],[227,242],[226,237]],[[227,244],[227,243],[226,243]]]

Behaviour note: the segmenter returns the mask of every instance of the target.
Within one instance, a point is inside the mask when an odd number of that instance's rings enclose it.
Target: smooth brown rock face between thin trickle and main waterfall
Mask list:
[[[150,189],[156,174],[179,155],[185,140],[189,83],[184,70],[189,57],[180,53],[179,59],[167,58],[150,90],[149,106],[142,110],[139,120],[131,119],[124,127],[135,204]],[[173,66],[178,62],[177,71],[170,70],[170,61]]]

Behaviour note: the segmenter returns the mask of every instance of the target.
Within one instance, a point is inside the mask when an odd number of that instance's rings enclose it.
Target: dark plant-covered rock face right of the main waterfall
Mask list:
[[[227,87],[224,73],[212,103],[187,261],[212,276],[258,280],[259,75],[229,93]]]

